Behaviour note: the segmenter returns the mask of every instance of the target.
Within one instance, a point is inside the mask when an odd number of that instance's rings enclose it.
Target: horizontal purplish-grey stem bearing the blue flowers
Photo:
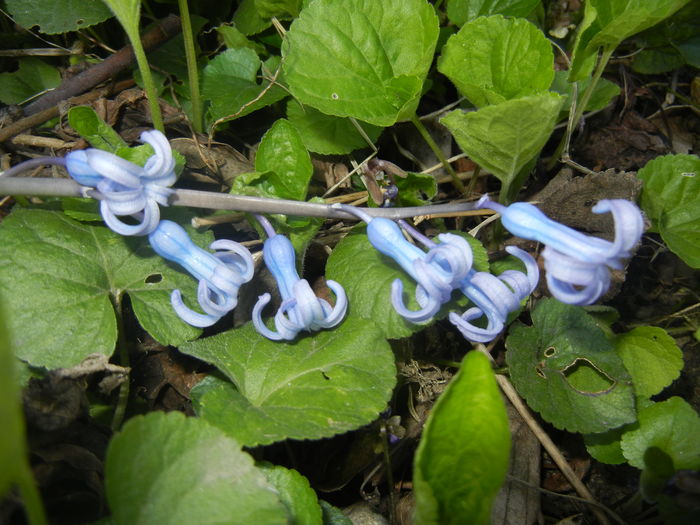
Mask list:
[[[52,197],[91,197],[100,199],[100,192],[80,186],[72,179],[0,177],[0,195],[43,195]],[[353,219],[356,216],[334,208],[330,204],[292,201],[285,199],[267,199],[229,193],[175,189],[169,199],[171,206],[189,206],[215,210],[245,211],[252,213],[280,213],[302,217],[327,217],[335,219]],[[362,208],[372,217],[388,219],[406,219],[418,215],[436,213],[458,214],[474,209],[473,202],[456,202],[448,204],[431,204],[406,208]]]

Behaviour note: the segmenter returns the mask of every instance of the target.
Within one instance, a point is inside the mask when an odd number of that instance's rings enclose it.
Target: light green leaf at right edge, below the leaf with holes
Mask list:
[[[630,465],[645,468],[652,447],[667,454],[675,470],[700,468],[700,417],[680,397],[655,403],[639,412],[639,428],[622,436],[622,452]]]

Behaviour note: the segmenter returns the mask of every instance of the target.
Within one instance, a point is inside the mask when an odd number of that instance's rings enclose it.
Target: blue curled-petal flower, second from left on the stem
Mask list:
[[[173,290],[170,303],[180,318],[192,326],[205,327],[217,322],[238,303],[238,288],[253,277],[254,263],[250,252],[234,241],[218,240],[209,245],[209,253],[192,242],[180,225],[163,220],[148,240],[153,250],[176,262],[199,280],[197,300],[205,314],[185,306],[180,290]]]

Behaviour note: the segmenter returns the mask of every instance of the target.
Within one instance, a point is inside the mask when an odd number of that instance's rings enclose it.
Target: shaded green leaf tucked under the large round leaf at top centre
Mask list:
[[[287,103],[287,118],[309,151],[322,155],[341,155],[369,147],[349,118],[326,115],[311,106],[302,107],[293,99]],[[366,122],[357,124],[362,126],[372,142],[377,140],[383,129]]]

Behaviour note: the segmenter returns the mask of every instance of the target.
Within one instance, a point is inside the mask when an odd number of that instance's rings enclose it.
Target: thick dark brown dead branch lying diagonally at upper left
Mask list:
[[[158,25],[143,35],[141,41],[146,51],[150,51],[167,42],[181,31],[180,17],[168,15],[158,22]],[[113,77],[116,73],[125,69],[134,62],[134,53],[131,46],[126,46],[106,58],[99,64],[86,69],[82,73],[64,81],[53,91],[48,92],[31,104],[25,106],[24,114],[35,115],[49,109],[59,102],[84,93],[96,85]]]

